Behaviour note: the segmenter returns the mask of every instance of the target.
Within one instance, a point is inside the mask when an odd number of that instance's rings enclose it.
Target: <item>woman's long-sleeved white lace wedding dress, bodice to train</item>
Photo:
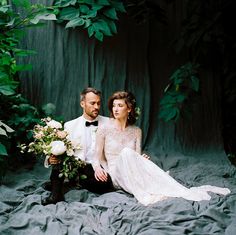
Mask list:
[[[128,126],[120,131],[110,120],[99,127],[96,151],[98,156],[104,153],[106,170],[114,186],[133,194],[144,205],[168,197],[182,197],[193,201],[210,200],[208,191],[223,195],[230,193],[227,188],[211,185],[186,188],[178,183],[152,161],[140,155],[141,130],[135,126]]]

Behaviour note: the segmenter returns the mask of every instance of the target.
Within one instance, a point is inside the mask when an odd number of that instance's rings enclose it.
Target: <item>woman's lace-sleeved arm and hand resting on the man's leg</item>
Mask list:
[[[103,149],[105,143],[105,132],[103,127],[99,127],[96,133],[96,146],[95,146],[95,157],[92,163],[94,169],[95,178],[98,181],[106,181],[107,180],[107,173],[101,167],[100,161],[103,157]]]

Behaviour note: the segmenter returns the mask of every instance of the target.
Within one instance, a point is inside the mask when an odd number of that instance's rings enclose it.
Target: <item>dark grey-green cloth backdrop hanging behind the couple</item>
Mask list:
[[[187,51],[176,54],[172,47],[180,35],[184,1],[169,5],[163,1],[163,8],[167,24],[152,19],[137,25],[122,15],[118,34],[106,37],[102,43],[89,38],[83,29],[68,30],[55,22],[29,30],[22,45],[36,50],[37,55],[24,59],[33,64],[33,70],[20,74],[22,92],[35,105],[54,103],[57,114],[69,120],[82,112],[79,93],[83,88],[93,86],[102,91],[105,115],[108,97],[116,90],[129,90],[141,108],[137,124],[143,130],[146,150],[222,152],[221,91],[214,68],[200,75],[201,93],[191,120],[174,124],[158,119],[160,98],[169,76],[188,62]]]

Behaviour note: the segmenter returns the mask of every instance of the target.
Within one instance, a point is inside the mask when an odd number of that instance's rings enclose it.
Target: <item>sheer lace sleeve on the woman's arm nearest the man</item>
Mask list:
[[[105,128],[99,126],[96,132],[96,145],[95,145],[95,156],[92,163],[93,168],[100,166],[100,162],[103,160],[103,149],[105,143]]]

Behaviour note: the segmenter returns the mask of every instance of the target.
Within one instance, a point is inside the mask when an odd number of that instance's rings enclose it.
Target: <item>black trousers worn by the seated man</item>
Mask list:
[[[55,201],[64,200],[64,177],[59,177],[61,165],[53,165],[52,172],[50,176],[51,181],[51,191],[52,198]],[[94,176],[94,170],[91,164],[86,164],[85,167],[80,168],[78,175],[85,175],[84,178],[79,178],[79,185],[81,188],[87,189],[90,192],[103,194],[107,192],[114,191],[114,187],[111,181],[110,175],[108,175],[108,180],[106,182],[97,181]],[[76,186],[76,179],[71,180],[70,187]]]

